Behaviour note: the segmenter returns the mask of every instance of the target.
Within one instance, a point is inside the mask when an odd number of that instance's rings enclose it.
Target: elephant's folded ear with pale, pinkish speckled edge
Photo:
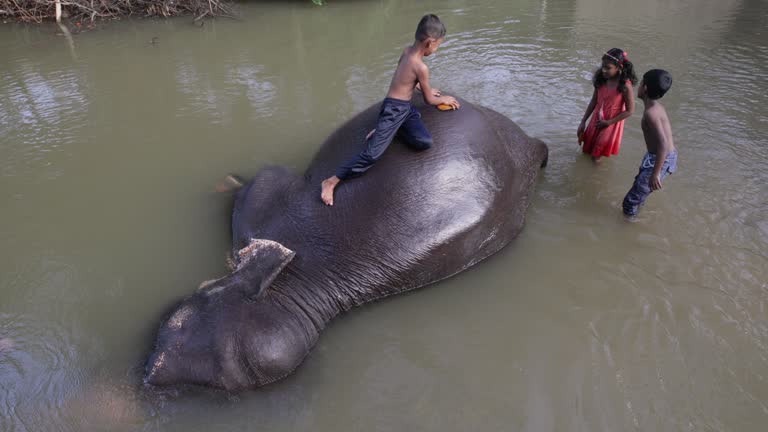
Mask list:
[[[238,285],[250,298],[258,297],[296,256],[296,252],[272,240],[251,239],[237,252]]]

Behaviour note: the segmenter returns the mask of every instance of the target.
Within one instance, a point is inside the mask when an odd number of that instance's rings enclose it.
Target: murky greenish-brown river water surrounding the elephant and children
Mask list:
[[[71,43],[54,25],[0,25],[0,430],[765,430],[765,1],[241,9]],[[276,385],[137,392],[163,311],[226,272],[230,203],[215,182],[301,172],[384,96],[428,11],[448,27],[434,85],[550,146],[523,234],[337,320]],[[575,139],[611,47],[674,75],[663,103],[679,171],[635,223],[620,203],[644,153],[639,112],[599,166]]]

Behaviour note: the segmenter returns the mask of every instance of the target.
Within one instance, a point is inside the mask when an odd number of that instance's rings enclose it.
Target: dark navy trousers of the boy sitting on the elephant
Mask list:
[[[385,98],[381,104],[376,131],[368,139],[367,146],[359,155],[336,170],[336,177],[345,180],[358,176],[376,163],[397,134],[414,150],[432,147],[430,135],[421,114],[409,101]]]

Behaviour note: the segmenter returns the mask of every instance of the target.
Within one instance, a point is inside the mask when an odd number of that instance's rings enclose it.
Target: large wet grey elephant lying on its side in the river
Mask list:
[[[320,182],[363,149],[378,104],[336,130],[304,176],[265,168],[237,192],[238,267],[164,320],[145,382],[269,384],[340,313],[459,273],[518,235],[546,145],[466,101],[458,111],[418,107],[433,147],[395,140],[364,176],[340,184],[333,207],[320,201]]]

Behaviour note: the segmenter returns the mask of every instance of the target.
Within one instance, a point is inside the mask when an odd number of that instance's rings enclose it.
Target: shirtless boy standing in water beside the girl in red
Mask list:
[[[677,170],[677,149],[672,142],[672,127],[669,125],[667,111],[658,102],[670,87],[672,75],[661,69],[649,70],[640,82],[637,96],[645,104],[641,125],[648,152],[640,164],[635,184],[624,197],[622,207],[628,217],[637,216],[651,192],[661,189],[664,178]]]

